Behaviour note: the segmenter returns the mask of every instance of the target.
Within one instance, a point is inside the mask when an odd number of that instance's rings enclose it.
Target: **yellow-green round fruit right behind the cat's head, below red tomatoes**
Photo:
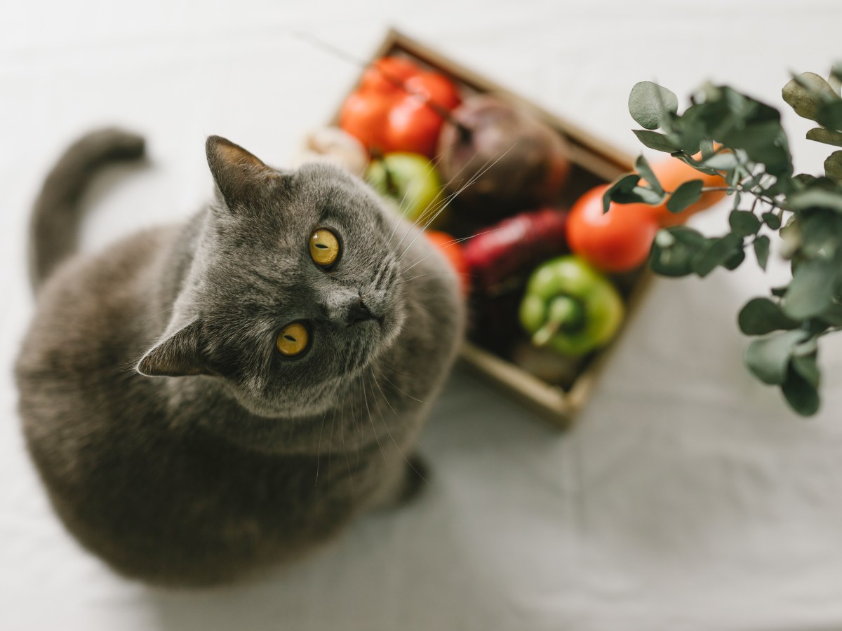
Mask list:
[[[444,185],[439,172],[419,153],[386,153],[369,163],[365,181],[397,204],[397,211],[422,227],[446,223]]]

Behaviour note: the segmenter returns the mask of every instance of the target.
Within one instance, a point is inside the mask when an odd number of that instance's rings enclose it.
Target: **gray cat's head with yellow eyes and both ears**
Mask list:
[[[325,411],[401,331],[393,225],[338,167],[280,172],[217,136],[206,150],[216,204],[138,370],[220,379],[260,416]]]

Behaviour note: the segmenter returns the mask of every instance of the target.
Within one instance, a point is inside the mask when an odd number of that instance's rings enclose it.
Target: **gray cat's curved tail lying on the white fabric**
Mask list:
[[[80,200],[93,176],[110,162],[141,158],[144,149],[140,135],[96,130],[69,146],[52,167],[35,201],[29,232],[29,277],[35,291],[76,251]]]

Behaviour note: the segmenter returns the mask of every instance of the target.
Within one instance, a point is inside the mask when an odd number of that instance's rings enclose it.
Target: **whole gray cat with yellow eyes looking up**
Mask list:
[[[216,136],[206,152],[214,204],[67,258],[85,184],[143,141],[103,130],[68,149],[35,206],[16,367],[62,521],[163,585],[252,574],[412,496],[464,326],[444,257],[360,180],[277,171]]]

